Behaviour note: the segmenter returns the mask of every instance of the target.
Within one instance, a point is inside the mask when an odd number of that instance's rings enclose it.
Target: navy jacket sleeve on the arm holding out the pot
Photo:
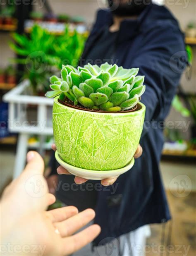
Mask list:
[[[132,67],[139,67],[139,75],[145,75],[141,102],[146,105],[145,122],[150,123],[166,117],[186,67],[186,51],[183,34],[172,27],[157,26],[146,33],[142,45]]]

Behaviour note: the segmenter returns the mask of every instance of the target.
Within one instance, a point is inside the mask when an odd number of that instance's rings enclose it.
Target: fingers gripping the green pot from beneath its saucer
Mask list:
[[[52,149],[54,150],[54,151],[56,151],[56,146],[55,146],[55,144],[53,144],[52,145]],[[134,155],[134,158],[139,158],[141,155],[142,155],[142,147],[139,145],[138,146],[138,148],[137,148],[137,150],[136,150],[136,152],[135,152],[135,155]],[[59,166],[58,168],[57,168],[57,173],[59,174],[59,175],[61,175],[61,174],[67,174],[67,175],[70,175],[70,173],[65,169],[65,168],[63,168],[62,166]],[[111,178],[111,179],[103,179],[103,180],[101,180],[101,184],[103,185],[103,186],[110,186],[110,185],[112,185],[116,180],[117,180],[117,178],[118,178],[119,176],[117,176],[117,177],[115,177],[115,178]],[[75,177],[75,179],[74,179],[74,181],[76,182],[76,184],[82,184],[82,183],[84,183],[84,182],[86,182],[88,179],[84,179],[84,178],[81,178],[81,177]]]

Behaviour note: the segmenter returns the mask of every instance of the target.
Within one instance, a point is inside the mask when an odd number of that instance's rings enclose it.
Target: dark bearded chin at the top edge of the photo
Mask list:
[[[149,4],[151,0],[108,0],[112,13],[120,17],[139,15]]]

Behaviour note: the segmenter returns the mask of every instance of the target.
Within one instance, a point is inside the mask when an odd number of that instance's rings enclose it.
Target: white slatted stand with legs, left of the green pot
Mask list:
[[[53,135],[52,106],[53,99],[33,96],[28,80],[23,81],[3,96],[9,103],[8,128],[12,133],[19,133],[17,153],[14,165],[14,178],[18,177],[26,162],[28,139],[32,134],[39,135],[39,152],[43,154],[45,136]],[[36,120],[31,120],[29,109],[34,108]]]

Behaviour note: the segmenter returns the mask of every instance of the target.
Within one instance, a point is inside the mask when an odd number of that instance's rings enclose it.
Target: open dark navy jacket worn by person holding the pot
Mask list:
[[[88,38],[83,58],[93,47],[104,26],[112,24],[112,14],[100,10]],[[176,93],[186,65],[184,36],[177,21],[163,6],[149,5],[139,16],[137,29],[125,20],[120,26],[114,60],[124,68],[139,67],[145,75],[146,122],[141,137],[143,154],[134,167],[117,179],[117,190],[98,192],[96,219],[102,232],[95,244],[135,230],[148,223],[170,219],[159,162],[163,147],[163,120]]]

